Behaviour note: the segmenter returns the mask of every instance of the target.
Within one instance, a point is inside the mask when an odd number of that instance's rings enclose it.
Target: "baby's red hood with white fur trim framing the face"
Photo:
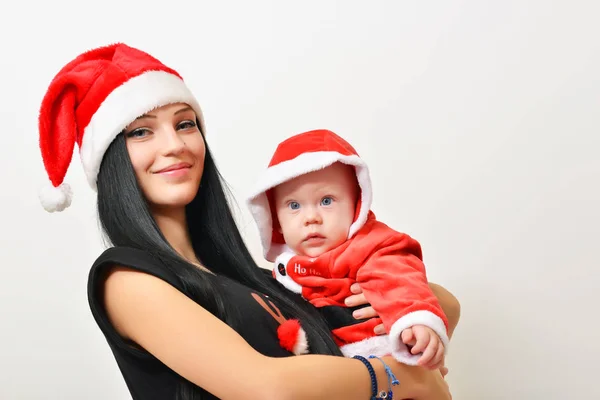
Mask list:
[[[273,262],[278,255],[289,250],[283,235],[274,229],[274,211],[271,189],[300,175],[317,171],[336,162],[351,165],[356,170],[360,198],[348,238],[351,238],[367,221],[372,202],[371,178],[367,164],[356,150],[335,133],[320,129],[300,133],[281,142],[267,170],[258,179],[248,197],[247,204],[258,226],[264,257]]]

